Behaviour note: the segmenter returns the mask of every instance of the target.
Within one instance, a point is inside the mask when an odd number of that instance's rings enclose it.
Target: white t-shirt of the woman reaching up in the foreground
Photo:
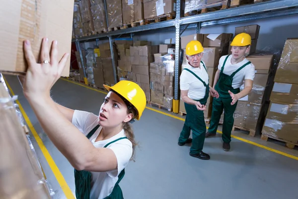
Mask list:
[[[75,110],[73,115],[73,124],[85,135],[98,124],[98,116],[85,111]],[[117,135],[107,139],[95,142],[102,127],[100,126],[96,132],[90,137],[90,141],[96,148],[102,148],[109,142],[118,138],[125,137],[122,129]],[[109,196],[118,181],[118,175],[129,163],[133,153],[133,147],[129,139],[118,140],[107,148],[112,149],[117,158],[118,169],[108,172],[91,172],[91,192],[90,199],[104,199]]]

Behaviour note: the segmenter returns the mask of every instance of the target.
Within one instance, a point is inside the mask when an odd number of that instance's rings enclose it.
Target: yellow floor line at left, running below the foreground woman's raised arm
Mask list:
[[[5,78],[4,78],[5,80]],[[12,91],[11,87],[9,86],[9,84],[7,83],[7,81],[5,80],[6,86],[8,87],[8,89],[10,90],[10,93],[14,96],[14,92]],[[34,126],[32,125],[28,115],[26,114],[25,110],[23,109],[23,106],[21,105],[21,103],[19,102],[19,100],[15,100],[15,102],[19,105],[19,109],[31,131],[31,133],[33,134],[41,152],[43,153],[43,155],[45,156],[50,168],[52,169],[61,189],[63,190],[65,196],[67,197],[67,199],[75,199],[72,190],[70,189],[70,187],[68,186],[68,184],[66,183],[63,175],[61,174],[60,170],[58,169],[55,161],[53,160],[52,156],[50,155],[49,151],[47,150],[46,146],[44,145],[43,141],[41,140],[41,138],[39,137],[39,135],[37,134]]]

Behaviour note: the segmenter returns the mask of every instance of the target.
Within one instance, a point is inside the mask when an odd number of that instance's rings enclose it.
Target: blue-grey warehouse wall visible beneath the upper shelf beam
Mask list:
[[[261,26],[257,50],[270,47],[271,49],[282,51],[287,38],[298,37],[298,15],[203,27],[201,33],[234,33],[235,27],[250,24],[258,24]],[[195,29],[187,29],[182,36],[194,33],[196,33]],[[142,35],[134,36],[134,40],[148,40],[151,41],[153,45],[163,43],[164,40],[168,38],[175,38],[175,31],[161,30],[160,33],[142,33]]]

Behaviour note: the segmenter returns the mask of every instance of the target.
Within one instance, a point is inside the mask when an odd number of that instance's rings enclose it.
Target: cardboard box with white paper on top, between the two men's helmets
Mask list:
[[[230,33],[204,34],[204,47],[223,47],[229,43]]]

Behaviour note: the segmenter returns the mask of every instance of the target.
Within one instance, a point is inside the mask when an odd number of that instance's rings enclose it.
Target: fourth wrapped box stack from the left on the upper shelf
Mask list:
[[[106,0],[108,12],[108,28],[119,27],[123,25],[122,21],[122,1]]]

